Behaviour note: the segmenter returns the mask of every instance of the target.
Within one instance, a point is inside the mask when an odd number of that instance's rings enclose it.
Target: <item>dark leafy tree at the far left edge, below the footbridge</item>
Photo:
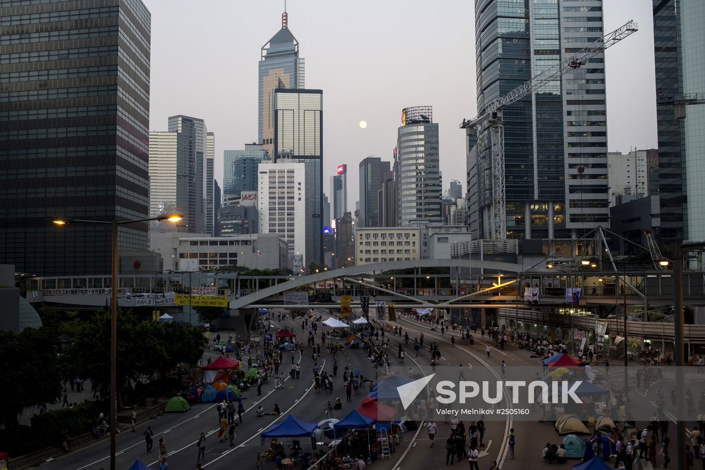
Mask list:
[[[16,335],[0,331],[0,371],[4,394],[0,418],[8,430],[19,426],[17,416],[28,406],[54,403],[61,397],[59,340],[48,328],[25,328]]]

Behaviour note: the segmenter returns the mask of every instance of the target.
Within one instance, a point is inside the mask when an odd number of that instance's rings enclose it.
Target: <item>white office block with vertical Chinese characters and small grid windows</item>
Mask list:
[[[259,233],[278,234],[288,243],[289,255],[309,254],[309,223],[306,191],[309,178],[306,165],[288,159],[259,164],[257,212]],[[301,221],[304,221],[303,223]]]

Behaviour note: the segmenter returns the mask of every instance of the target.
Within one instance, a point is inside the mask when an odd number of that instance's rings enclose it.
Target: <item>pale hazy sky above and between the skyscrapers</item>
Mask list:
[[[283,0],[143,0],[152,12],[149,127],[202,118],[223,150],[257,140],[257,62],[281,28]],[[606,52],[609,150],[655,148],[651,0],[605,0],[605,31],[639,31]],[[324,97],[324,192],[348,164],[348,209],[359,199],[360,160],[391,161],[401,109],[431,105],[439,123],[443,191],[465,181],[464,131],[476,114],[474,1],[288,0],[289,29],[306,59],[306,87]],[[361,129],[360,121],[367,121]]]

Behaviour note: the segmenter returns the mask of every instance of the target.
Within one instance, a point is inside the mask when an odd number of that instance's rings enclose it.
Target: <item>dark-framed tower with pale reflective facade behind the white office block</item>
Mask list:
[[[323,92],[277,88],[274,112],[274,162],[290,159],[306,167],[306,215],[297,220],[307,227],[305,266],[323,263]]]

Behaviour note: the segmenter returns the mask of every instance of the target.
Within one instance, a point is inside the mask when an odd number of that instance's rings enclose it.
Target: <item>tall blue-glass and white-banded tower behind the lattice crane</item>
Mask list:
[[[604,35],[601,0],[476,0],[475,25],[478,109]],[[508,238],[570,238],[609,224],[604,66],[597,54],[504,109]],[[467,187],[491,238],[489,126],[477,149]]]

